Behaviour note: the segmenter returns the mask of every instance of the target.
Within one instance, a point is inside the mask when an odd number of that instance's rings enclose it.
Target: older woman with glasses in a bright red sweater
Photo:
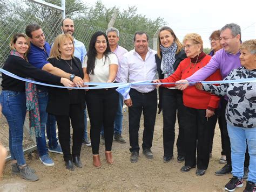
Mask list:
[[[203,52],[203,40],[199,34],[187,34],[183,44],[187,58],[180,62],[177,70],[171,76],[154,82],[176,82],[191,76],[207,65],[211,56]],[[206,79],[206,81],[211,80],[221,80],[219,71]],[[173,87],[174,84],[163,84],[163,86]],[[196,175],[201,176],[205,174],[209,163],[209,127],[217,118],[214,110],[218,108],[219,97],[206,91],[198,91],[196,87],[191,86],[183,91],[183,102],[185,105],[185,166],[180,170],[188,172],[197,165]]]

